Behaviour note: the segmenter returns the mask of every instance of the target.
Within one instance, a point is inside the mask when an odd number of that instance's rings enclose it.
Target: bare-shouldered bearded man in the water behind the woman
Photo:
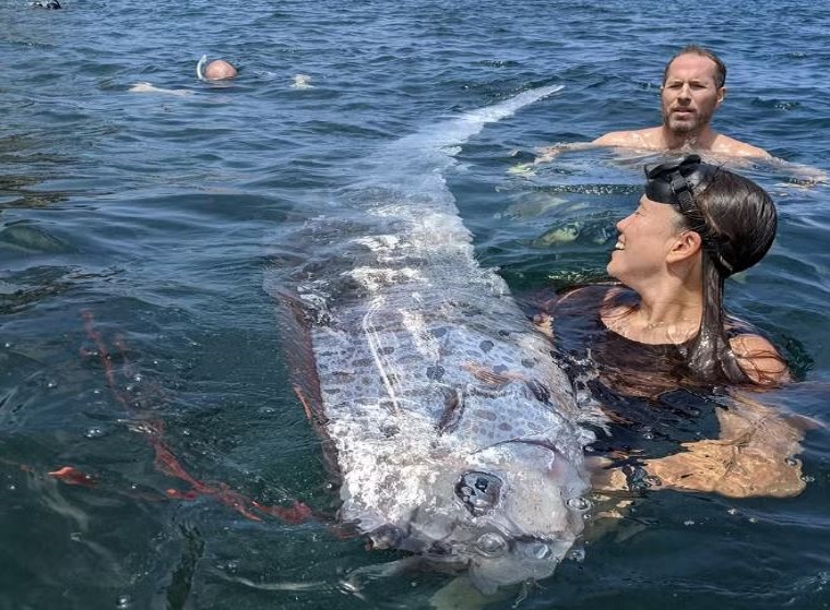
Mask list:
[[[770,157],[757,146],[710,127],[726,95],[726,67],[713,52],[695,45],[684,47],[666,64],[660,89],[663,124],[636,131],[614,131],[593,144],[644,149],[711,151],[733,157]]]

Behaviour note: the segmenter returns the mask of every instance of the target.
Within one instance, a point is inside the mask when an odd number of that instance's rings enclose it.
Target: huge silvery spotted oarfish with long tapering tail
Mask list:
[[[339,474],[339,518],[375,547],[467,569],[484,593],[549,576],[580,536],[601,416],[476,262],[443,174],[454,146],[559,88],[388,146],[304,224],[307,256],[266,272],[292,312],[287,351]]]

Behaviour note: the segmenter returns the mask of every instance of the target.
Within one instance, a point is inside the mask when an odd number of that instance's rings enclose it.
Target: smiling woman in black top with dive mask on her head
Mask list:
[[[602,461],[596,487],[796,494],[801,432],[735,392],[787,381],[786,363],[723,308],[726,277],[772,246],[772,200],[697,155],[647,168],[647,177],[637,210],[617,224],[607,271],[621,285],[577,289],[550,311],[571,378],[612,420],[594,446],[615,461]]]

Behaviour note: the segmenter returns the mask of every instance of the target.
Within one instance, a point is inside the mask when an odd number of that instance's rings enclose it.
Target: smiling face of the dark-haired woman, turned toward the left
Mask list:
[[[637,210],[617,223],[619,237],[608,262],[608,274],[635,289],[642,282],[659,278],[681,232],[680,220],[680,214],[672,205],[642,195]]]

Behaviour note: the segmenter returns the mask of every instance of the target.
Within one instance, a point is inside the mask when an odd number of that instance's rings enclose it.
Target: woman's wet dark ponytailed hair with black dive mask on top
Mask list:
[[[724,280],[767,254],[778,229],[775,205],[751,180],[700,163],[697,155],[647,167],[647,196],[673,204],[684,228],[696,231],[702,241],[703,313],[690,346],[689,367],[712,382],[748,382],[726,335]]]

